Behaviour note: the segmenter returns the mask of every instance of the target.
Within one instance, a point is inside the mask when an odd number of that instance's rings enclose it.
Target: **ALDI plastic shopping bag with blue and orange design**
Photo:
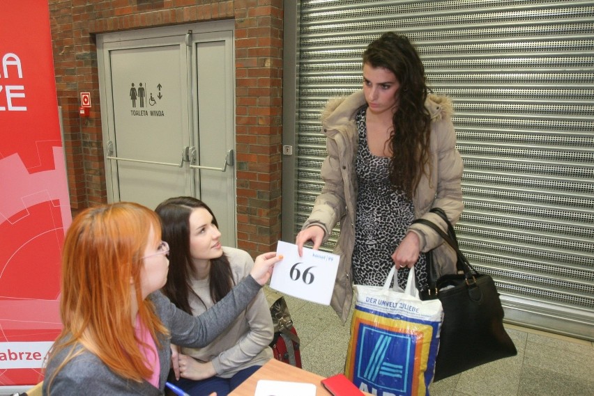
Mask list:
[[[355,285],[344,374],[374,395],[429,395],[443,310],[437,299],[419,299],[414,271],[409,272],[406,290],[398,287],[394,267],[383,287]]]

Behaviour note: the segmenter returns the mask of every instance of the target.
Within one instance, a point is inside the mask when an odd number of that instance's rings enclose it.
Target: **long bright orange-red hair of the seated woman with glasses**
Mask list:
[[[140,290],[142,255],[151,227],[160,240],[157,214],[137,203],[91,207],[75,217],[62,256],[63,331],[49,356],[70,347],[59,370],[82,345],[125,379],[142,381],[151,376],[131,318],[132,306],[137,305],[139,319],[160,346],[158,334],[168,334],[167,328]]]

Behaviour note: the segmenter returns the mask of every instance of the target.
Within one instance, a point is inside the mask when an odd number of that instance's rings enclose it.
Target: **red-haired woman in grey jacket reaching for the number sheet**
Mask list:
[[[66,232],[63,331],[45,370],[43,395],[163,395],[170,343],[202,347],[245,309],[270,278],[275,253],[212,310],[192,317],[161,292],[169,246],[160,220],[135,203],[91,207]]]

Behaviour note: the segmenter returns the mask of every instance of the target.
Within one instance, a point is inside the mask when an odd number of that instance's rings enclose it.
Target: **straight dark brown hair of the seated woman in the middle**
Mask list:
[[[192,315],[188,296],[193,294],[190,273],[192,271],[192,255],[190,254],[190,214],[203,207],[213,216],[213,223],[218,227],[217,218],[206,203],[193,197],[176,197],[163,201],[155,209],[160,217],[162,239],[169,244],[169,272],[167,283],[162,288],[175,306]],[[211,259],[209,289],[213,303],[220,301],[234,287],[231,264],[226,255]],[[204,301],[202,301],[204,303]],[[204,304],[206,306],[206,304]]]

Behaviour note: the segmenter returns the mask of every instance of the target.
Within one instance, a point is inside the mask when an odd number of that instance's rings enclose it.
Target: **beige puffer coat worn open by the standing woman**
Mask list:
[[[358,134],[355,113],[365,104],[363,90],[348,97],[329,100],[321,115],[323,133],[326,134],[328,157],[323,161],[321,177],[324,187],[317,197],[314,209],[303,228],[319,225],[326,232],[324,242],[340,221],[340,236],[334,253],[340,255],[340,264],[330,305],[343,322],[346,322],[353,300],[351,284],[351,255],[355,244],[355,215],[357,202],[357,176],[355,161]],[[462,157],[456,149],[456,134],[450,117],[453,109],[447,97],[429,95],[425,106],[432,117],[430,150],[432,154],[431,180],[423,175],[413,196],[416,218],[439,224],[447,232],[446,224],[437,214],[429,212],[441,207],[448,219],[455,224],[462,204]],[[437,233],[425,225],[413,224],[409,231],[419,236],[420,250],[430,251],[443,243]],[[440,246],[443,258],[438,273],[455,272],[455,254],[450,248]]]

